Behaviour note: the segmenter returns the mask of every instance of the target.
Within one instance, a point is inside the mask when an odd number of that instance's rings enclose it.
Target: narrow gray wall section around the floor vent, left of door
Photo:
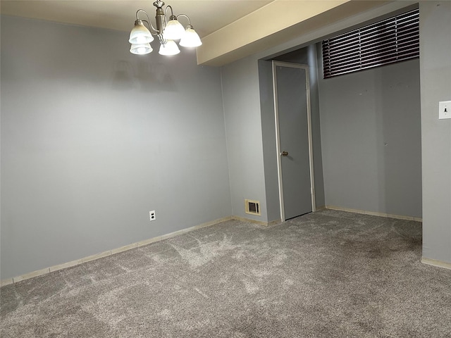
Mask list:
[[[249,57],[224,66],[222,79],[233,215],[266,222],[257,61]],[[245,213],[245,199],[260,201],[261,216]]]

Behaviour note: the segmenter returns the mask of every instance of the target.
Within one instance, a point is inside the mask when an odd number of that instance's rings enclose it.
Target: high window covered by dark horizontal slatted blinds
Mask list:
[[[323,41],[324,78],[419,57],[419,10]]]

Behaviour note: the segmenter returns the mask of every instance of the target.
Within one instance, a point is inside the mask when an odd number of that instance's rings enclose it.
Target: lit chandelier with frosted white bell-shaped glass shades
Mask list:
[[[190,18],[187,15],[174,15],[171,6],[166,6],[166,9],[163,9],[163,1],[155,1],[154,6],[156,7],[156,27],[152,25],[146,11],[138,9],[136,12],[135,27],[130,32],[130,39],[128,39],[128,42],[132,44],[130,53],[140,55],[151,53],[153,49],[150,43],[154,41],[152,35],[156,35],[160,40],[159,54],[161,55],[175,55],[180,53],[180,49],[178,49],[178,45],[174,40],[180,40],[178,44],[183,47],[197,47],[202,44],[199,35],[193,29]],[[168,9],[171,10],[169,20],[166,15]],[[147,20],[140,20],[140,13],[143,13],[147,17]],[[178,21],[180,17],[187,18],[188,20],[188,25],[185,28]]]

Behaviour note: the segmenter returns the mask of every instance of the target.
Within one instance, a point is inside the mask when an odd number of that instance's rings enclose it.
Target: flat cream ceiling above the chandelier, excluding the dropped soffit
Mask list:
[[[142,8],[154,20],[153,0],[1,0],[0,12],[22,16],[113,30],[130,31],[135,13]],[[168,0],[174,14],[186,14],[199,36],[219,30],[235,20],[256,11],[273,0]],[[184,25],[183,18],[180,22]],[[154,22],[154,21],[153,21]]]

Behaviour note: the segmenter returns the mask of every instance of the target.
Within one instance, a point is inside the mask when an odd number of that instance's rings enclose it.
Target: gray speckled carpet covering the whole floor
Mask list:
[[[1,337],[451,337],[421,223],[237,220],[1,288]]]

